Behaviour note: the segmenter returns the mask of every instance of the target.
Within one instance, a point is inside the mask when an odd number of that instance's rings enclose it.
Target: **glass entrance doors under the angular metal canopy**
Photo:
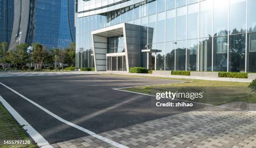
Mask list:
[[[111,56],[107,57],[108,71],[126,71],[125,56]]]

